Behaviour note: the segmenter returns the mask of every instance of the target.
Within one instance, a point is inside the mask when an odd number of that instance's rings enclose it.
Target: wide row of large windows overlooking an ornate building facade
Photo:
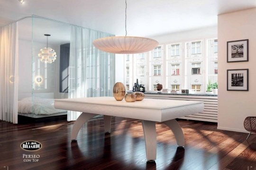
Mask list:
[[[130,90],[136,79],[147,91],[156,90],[159,83],[163,88],[190,89],[195,93],[205,92],[208,80],[218,82],[218,40],[214,37],[170,41],[152,51],[126,55],[124,60]]]

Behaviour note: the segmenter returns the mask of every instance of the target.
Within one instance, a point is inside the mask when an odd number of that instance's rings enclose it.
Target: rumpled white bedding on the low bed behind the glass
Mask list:
[[[55,109],[54,99],[43,99],[35,97],[26,97],[18,101],[19,113],[33,113],[50,115],[54,113],[64,112],[66,110]]]

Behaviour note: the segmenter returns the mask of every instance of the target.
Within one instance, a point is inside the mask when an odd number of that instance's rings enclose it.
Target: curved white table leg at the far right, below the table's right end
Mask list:
[[[173,131],[177,144],[179,146],[185,146],[183,131],[179,123],[175,119],[164,121],[163,123],[170,127],[170,129]]]

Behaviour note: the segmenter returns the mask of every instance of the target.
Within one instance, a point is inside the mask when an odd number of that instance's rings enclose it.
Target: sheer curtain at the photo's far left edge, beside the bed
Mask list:
[[[0,27],[0,119],[18,123],[18,23]]]

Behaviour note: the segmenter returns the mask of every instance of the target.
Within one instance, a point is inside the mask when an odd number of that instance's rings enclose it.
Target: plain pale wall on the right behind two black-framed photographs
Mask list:
[[[243,122],[256,116],[256,8],[218,16],[218,129],[247,132]],[[249,39],[249,61],[227,63],[227,42]],[[249,69],[249,91],[227,91],[227,69]]]

